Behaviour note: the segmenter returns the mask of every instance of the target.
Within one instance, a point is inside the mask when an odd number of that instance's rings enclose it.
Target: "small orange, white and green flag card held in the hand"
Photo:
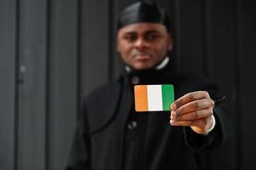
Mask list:
[[[134,87],[135,111],[170,111],[174,102],[174,86],[136,85]]]

